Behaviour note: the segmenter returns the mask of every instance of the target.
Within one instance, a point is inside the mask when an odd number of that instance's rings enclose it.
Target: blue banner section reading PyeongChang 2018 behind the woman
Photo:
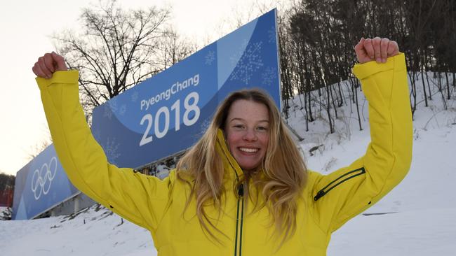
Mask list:
[[[281,108],[276,31],[274,9],[95,108],[109,162],[134,168],[191,147],[235,90],[260,87]]]

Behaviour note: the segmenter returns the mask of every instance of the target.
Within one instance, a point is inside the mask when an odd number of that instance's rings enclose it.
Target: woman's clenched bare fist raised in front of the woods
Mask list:
[[[399,47],[396,41],[377,36],[373,39],[361,38],[359,43],[355,45],[355,52],[360,64],[373,60],[377,63],[384,63],[387,62],[388,57],[399,54]]]

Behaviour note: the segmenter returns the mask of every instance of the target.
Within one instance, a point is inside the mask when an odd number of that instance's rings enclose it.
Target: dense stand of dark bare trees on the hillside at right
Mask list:
[[[303,94],[298,99],[301,110],[305,108],[306,124],[314,120],[312,112],[323,117],[321,111],[325,111],[328,130],[333,132],[337,109],[353,104],[359,129],[363,129],[358,106],[361,86],[351,76],[351,67],[356,62],[353,45],[361,36],[387,37],[401,45],[409,72],[412,114],[421,102],[417,99],[420,77],[424,105],[428,106],[428,99],[439,93],[444,108],[449,106],[447,101],[456,92],[456,48],[453,47],[456,1],[302,0],[294,3],[292,8],[279,13],[286,17],[284,22],[279,22],[286,27],[279,29],[282,97],[285,106],[293,108],[288,99],[295,93]],[[433,90],[429,71],[436,78]],[[351,101],[344,98],[341,90],[340,82],[347,79]]]

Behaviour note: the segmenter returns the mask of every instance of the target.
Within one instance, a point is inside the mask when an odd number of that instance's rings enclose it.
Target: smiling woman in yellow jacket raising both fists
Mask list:
[[[412,157],[403,54],[387,38],[361,38],[355,51],[372,141],[326,176],[306,169],[279,111],[257,90],[228,97],[168,178],[119,169],[86,125],[78,72],[54,52],[33,71],[69,179],[149,229],[159,255],[326,255],[331,233],[397,185]]]

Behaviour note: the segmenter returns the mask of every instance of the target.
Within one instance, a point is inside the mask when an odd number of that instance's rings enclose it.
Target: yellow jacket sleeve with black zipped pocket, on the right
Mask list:
[[[403,54],[353,69],[369,102],[371,141],[363,157],[329,175],[316,175],[311,208],[333,232],[379,201],[405,177],[412,160],[413,124]]]

